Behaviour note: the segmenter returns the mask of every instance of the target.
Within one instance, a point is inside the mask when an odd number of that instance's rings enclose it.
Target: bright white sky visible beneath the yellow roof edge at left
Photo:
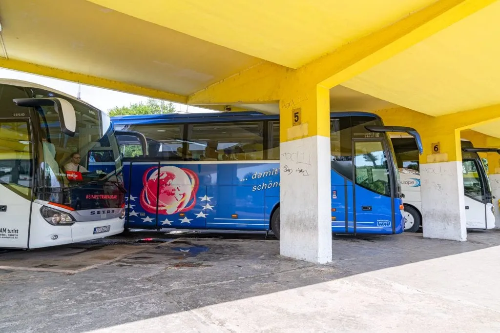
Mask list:
[[[52,88],[54,90],[65,92],[66,94],[74,97],[76,97],[78,94],[78,83],[58,80],[51,77],[34,75],[25,72],[0,68],[0,78],[16,79],[16,80],[38,83],[46,87]],[[147,97],[144,96],[128,94],[124,92],[118,92],[114,90],[108,90],[83,84],[80,85],[80,98],[81,100],[87,102],[88,104],[106,113],[109,111],[109,109],[112,109],[115,106],[128,106],[132,103],[145,102],[147,100]],[[179,112],[186,112],[186,109],[187,112],[190,113],[210,112],[207,109],[195,106],[190,106],[190,105],[187,106],[185,104],[179,104],[179,103],[173,103],[173,104],[175,105],[175,109]]]

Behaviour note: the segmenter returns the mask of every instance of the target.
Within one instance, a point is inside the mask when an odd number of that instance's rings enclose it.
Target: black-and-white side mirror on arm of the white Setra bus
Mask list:
[[[63,98],[14,98],[12,100],[17,106],[37,107],[53,106],[59,115],[59,124],[62,133],[74,136],[76,131],[76,112],[73,106]]]

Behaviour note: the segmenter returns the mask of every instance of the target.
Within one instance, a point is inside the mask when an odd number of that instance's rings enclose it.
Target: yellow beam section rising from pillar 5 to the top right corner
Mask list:
[[[438,0],[299,68],[299,75],[332,88],[495,1]]]

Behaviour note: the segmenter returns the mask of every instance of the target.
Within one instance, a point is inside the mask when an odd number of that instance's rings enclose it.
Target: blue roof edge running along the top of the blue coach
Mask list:
[[[330,117],[333,116],[373,116],[377,119],[380,117],[370,112],[330,112]],[[221,112],[221,113],[190,113],[190,114],[145,114],[145,115],[127,115],[111,117],[111,121],[116,124],[123,124],[133,121],[135,124],[161,124],[165,121],[169,123],[179,122],[203,122],[203,121],[251,121],[251,120],[278,120],[278,114],[266,115],[261,112]]]

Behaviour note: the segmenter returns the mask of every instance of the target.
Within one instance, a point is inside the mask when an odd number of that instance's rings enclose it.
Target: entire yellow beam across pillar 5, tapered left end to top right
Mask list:
[[[262,62],[190,95],[188,104],[276,100],[282,94],[280,90],[288,90],[287,85],[291,81],[331,88],[494,1],[496,0],[438,0],[296,70]]]

